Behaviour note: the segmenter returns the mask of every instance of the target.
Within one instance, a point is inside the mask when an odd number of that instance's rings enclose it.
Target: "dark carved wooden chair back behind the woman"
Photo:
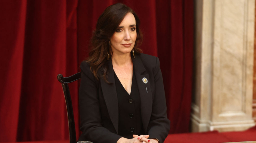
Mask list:
[[[76,80],[79,80],[80,78],[81,78],[81,72],[71,75],[69,77],[63,77],[62,74],[59,74],[57,76],[58,81],[60,83],[62,83],[62,89],[63,89],[64,96],[65,96],[65,102],[66,102],[66,107],[67,107],[67,112],[68,112],[70,143],[76,143],[77,140],[76,140],[76,128],[75,128],[73,107],[72,107],[72,101],[71,101],[68,83],[72,83]]]

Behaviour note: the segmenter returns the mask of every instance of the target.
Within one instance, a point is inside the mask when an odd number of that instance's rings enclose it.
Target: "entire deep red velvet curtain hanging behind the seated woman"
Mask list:
[[[141,20],[144,53],[159,57],[170,133],[189,131],[193,0],[0,1],[0,142],[68,139],[59,73],[80,71],[104,9],[124,3]],[[77,136],[78,85],[70,84]]]

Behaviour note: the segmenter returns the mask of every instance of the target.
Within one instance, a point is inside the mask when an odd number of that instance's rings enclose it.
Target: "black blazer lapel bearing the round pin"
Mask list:
[[[140,110],[141,110],[141,118],[143,123],[143,128],[145,133],[147,133],[147,126],[150,120],[151,112],[152,112],[152,92],[150,87],[149,75],[139,57],[136,55],[135,58],[132,57],[133,67],[135,70],[137,85],[140,94]],[[143,78],[147,78],[147,83],[142,81]]]

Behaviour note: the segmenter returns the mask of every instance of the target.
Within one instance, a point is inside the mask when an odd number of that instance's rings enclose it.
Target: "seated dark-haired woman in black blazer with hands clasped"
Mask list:
[[[93,143],[162,143],[170,130],[159,59],[142,54],[136,13],[124,4],[99,17],[88,60],[81,63],[79,106]]]

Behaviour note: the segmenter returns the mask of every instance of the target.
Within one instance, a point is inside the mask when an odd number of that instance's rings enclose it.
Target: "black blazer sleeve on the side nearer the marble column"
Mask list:
[[[153,70],[155,82],[155,95],[153,98],[152,113],[148,125],[148,135],[150,139],[158,139],[163,143],[170,130],[170,121],[166,115],[166,99],[162,72],[159,59],[156,58],[156,66]]]

